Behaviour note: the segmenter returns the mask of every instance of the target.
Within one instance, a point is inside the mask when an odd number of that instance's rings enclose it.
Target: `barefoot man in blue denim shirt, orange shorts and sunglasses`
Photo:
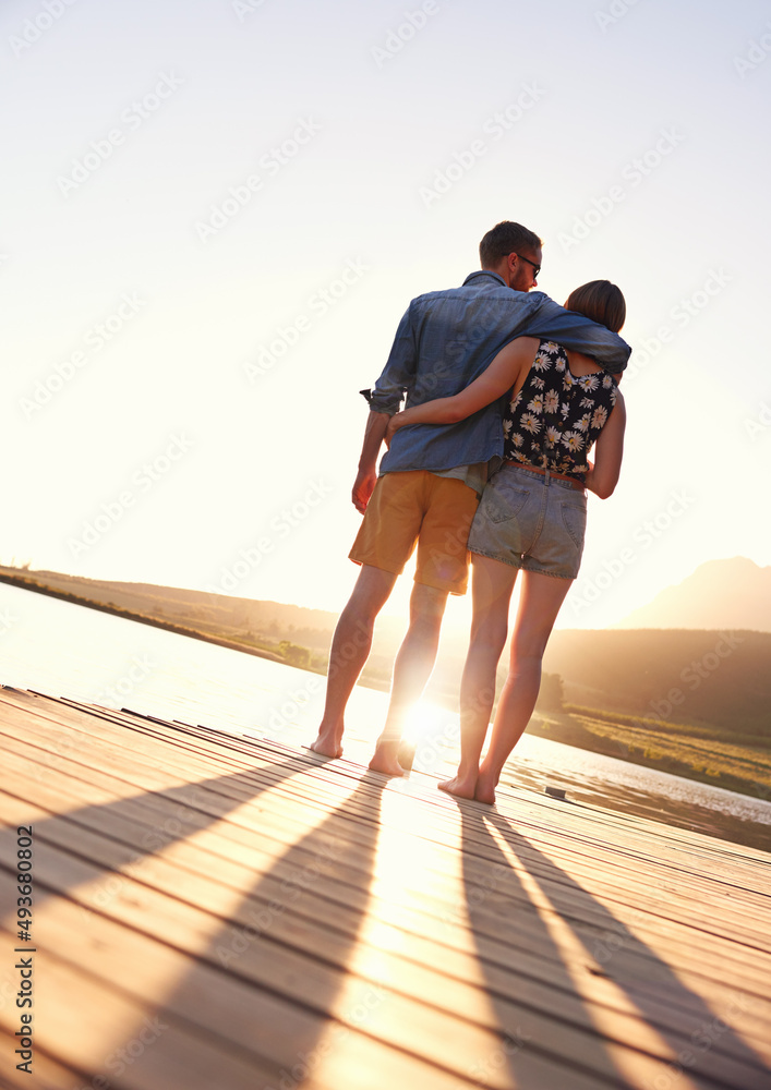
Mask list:
[[[342,752],[344,714],[366,662],[375,618],[418,543],[410,626],[394,664],[385,727],[370,767],[401,776],[397,752],[405,716],[436,659],[448,594],[467,584],[466,542],[486,480],[503,451],[501,402],[457,424],[403,427],[377,476],[388,421],[407,404],[451,397],[472,383],[515,337],[558,341],[593,356],[613,373],[626,367],[628,344],[604,326],[566,311],[542,292],[528,294],[541,270],[541,240],[508,220],[480,243],[481,271],[462,287],[413,299],[399,324],[383,374],[370,397],[370,417],[353,485],[364,514],[350,558],[362,566],[340,615],[329,652],[324,717],[312,750]],[[493,464],[493,468],[496,468]]]

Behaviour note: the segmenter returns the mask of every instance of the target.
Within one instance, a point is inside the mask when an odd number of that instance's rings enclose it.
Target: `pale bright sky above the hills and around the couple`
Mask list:
[[[767,3],[7,0],[0,47],[4,562],[339,610],[358,391],[514,219],[635,349],[558,623],[771,564]]]

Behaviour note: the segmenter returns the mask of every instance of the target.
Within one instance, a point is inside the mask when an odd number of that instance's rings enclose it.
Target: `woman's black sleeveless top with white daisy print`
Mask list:
[[[504,412],[504,458],[583,481],[587,456],[616,403],[604,372],[577,377],[554,341],[541,341],[525,385]]]

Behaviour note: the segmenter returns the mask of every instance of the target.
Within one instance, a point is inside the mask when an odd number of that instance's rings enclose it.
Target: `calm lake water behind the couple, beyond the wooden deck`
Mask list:
[[[0,682],[290,746],[315,737],[324,697],[317,675],[5,584],[0,584]],[[384,693],[356,689],[346,756],[369,760],[385,706]],[[421,705],[415,771],[449,773],[457,737],[457,715]],[[771,802],[546,739],[526,735],[504,780],[533,791],[566,788],[576,802],[771,850]]]

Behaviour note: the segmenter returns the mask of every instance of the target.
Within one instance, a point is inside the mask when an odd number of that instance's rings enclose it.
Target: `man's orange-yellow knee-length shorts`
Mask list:
[[[455,477],[426,470],[385,473],[348,554],[356,564],[400,576],[418,544],[415,582],[466,594],[466,544],[479,497]]]

